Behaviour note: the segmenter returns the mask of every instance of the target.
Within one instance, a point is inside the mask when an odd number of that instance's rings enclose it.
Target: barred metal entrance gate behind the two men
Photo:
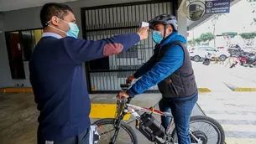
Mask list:
[[[116,34],[137,33],[138,24],[162,13],[175,14],[170,1],[149,1],[143,3],[123,3],[93,8],[81,8],[83,37],[98,40]],[[126,52],[86,63],[86,80],[91,93],[115,92],[125,83],[129,75],[153,55],[154,42],[140,41]],[[150,90],[158,90],[157,86]]]

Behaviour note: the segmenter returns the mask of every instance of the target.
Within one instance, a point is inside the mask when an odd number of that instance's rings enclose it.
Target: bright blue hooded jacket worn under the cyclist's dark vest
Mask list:
[[[186,44],[185,38],[177,32],[171,33],[163,45],[170,44],[174,41],[180,41]],[[134,74],[137,79],[141,77],[129,90],[128,95],[134,97],[148,90],[150,87],[159,84],[160,81],[170,76],[175,70],[179,69],[183,64],[184,51],[179,45],[172,45],[167,49],[163,57],[154,64],[154,56],[152,56],[142,67]]]

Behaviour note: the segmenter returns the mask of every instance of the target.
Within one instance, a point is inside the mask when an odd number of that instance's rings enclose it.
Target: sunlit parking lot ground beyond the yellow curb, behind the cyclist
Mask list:
[[[232,64],[232,59],[230,59]],[[192,62],[195,70],[196,82],[199,88],[208,88],[212,91],[255,91],[256,68],[243,67],[240,64],[230,69],[228,59],[224,64],[209,65],[202,62]]]

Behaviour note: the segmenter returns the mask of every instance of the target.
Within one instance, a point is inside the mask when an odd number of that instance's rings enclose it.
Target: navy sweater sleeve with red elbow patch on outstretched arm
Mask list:
[[[67,54],[77,63],[81,63],[128,50],[138,43],[140,37],[138,33],[129,33],[101,40],[74,39],[71,37],[66,37],[63,40]]]

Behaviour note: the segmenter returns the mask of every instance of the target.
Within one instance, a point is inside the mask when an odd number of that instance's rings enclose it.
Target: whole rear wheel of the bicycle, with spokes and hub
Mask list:
[[[191,116],[190,126],[192,130],[192,134],[196,136],[196,138],[200,138],[202,144],[224,144],[225,143],[225,133],[220,123],[216,120],[212,119],[208,116]],[[200,127],[200,128],[196,128]],[[214,132],[208,135],[208,132],[211,130],[210,128],[206,128],[203,126],[211,126]],[[217,136],[214,136],[217,134]],[[177,133],[174,129],[172,131],[171,137],[173,138],[174,143],[178,143]],[[191,143],[197,143],[195,138],[191,136]]]

